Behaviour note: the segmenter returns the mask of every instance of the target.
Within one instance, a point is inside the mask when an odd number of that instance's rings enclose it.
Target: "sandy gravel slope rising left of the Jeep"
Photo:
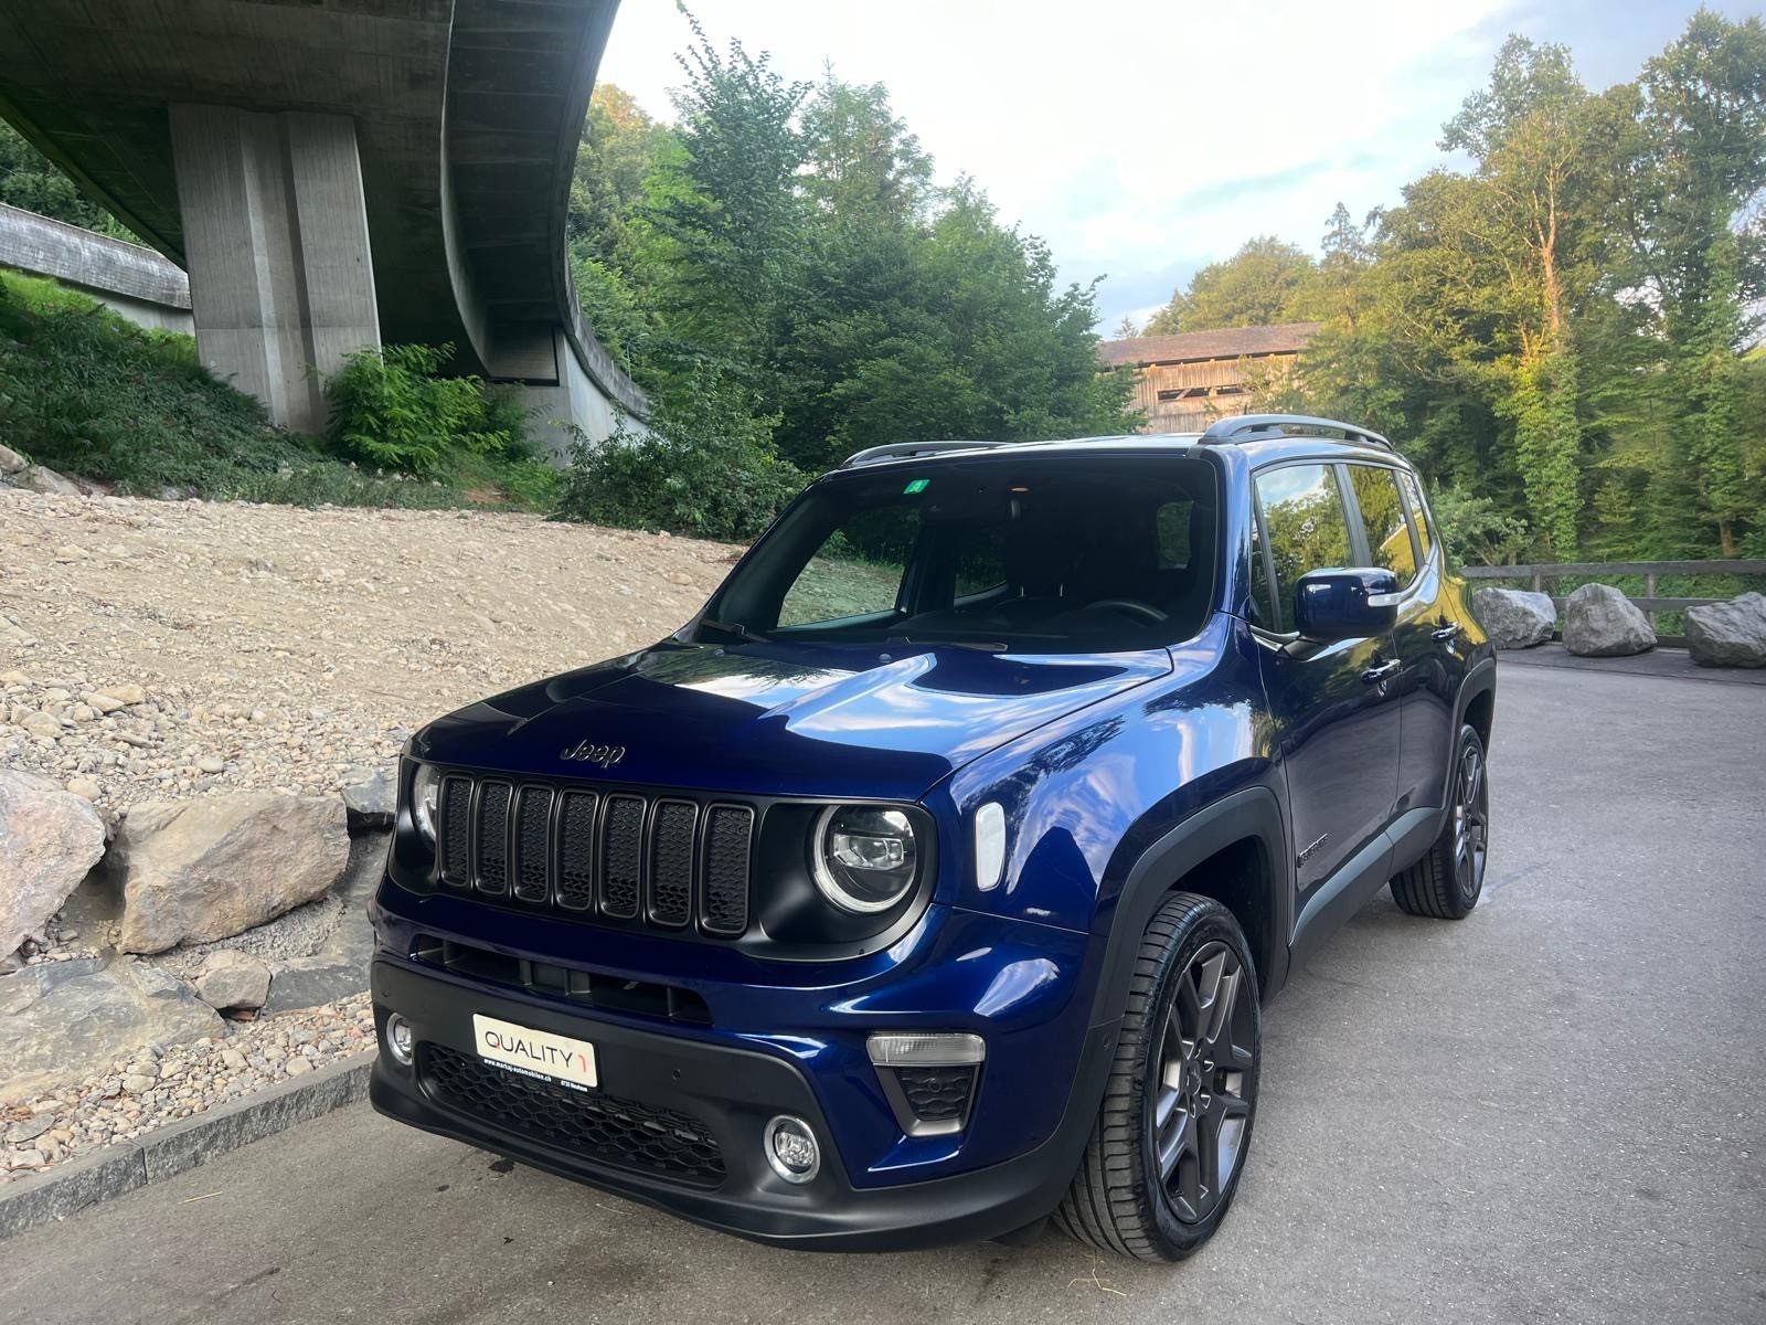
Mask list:
[[[482,511],[5,489],[0,765],[101,809],[327,793],[436,714],[668,634],[735,555]]]

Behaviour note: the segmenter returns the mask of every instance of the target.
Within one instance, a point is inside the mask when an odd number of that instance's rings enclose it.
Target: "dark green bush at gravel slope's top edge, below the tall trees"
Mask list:
[[[577,431],[558,519],[752,539],[804,486],[774,450],[777,422],[754,413],[749,392],[713,380],[659,405],[648,431],[623,419],[600,443]]]

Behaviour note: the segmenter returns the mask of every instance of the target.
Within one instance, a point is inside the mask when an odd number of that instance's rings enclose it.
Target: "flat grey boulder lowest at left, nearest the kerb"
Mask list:
[[[191,986],[145,961],[37,963],[0,980],[0,1104],[102,1072],[148,1042],[223,1034]]]

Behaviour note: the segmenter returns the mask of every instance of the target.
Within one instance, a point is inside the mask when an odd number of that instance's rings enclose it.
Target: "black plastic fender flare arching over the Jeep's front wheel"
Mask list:
[[[1215,852],[1247,837],[1256,841],[1264,855],[1270,896],[1261,947],[1270,970],[1257,975],[1264,1002],[1275,996],[1287,980],[1287,945],[1294,924],[1293,857],[1287,850],[1282,806],[1275,791],[1259,784],[1231,791],[1187,814],[1128,867],[1109,913],[1093,924],[1093,931],[1109,926],[1091,1005],[1093,1026],[1121,1019],[1141,936],[1176,882]],[[1247,935],[1247,938],[1256,945],[1257,936]]]

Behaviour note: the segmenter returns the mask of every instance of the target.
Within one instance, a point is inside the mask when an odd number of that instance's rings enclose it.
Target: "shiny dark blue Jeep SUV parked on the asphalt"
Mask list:
[[[1478,901],[1494,696],[1365,429],[862,452],[673,638],[411,738],[374,1104],[789,1247],[1185,1256],[1263,1003],[1388,882]]]

